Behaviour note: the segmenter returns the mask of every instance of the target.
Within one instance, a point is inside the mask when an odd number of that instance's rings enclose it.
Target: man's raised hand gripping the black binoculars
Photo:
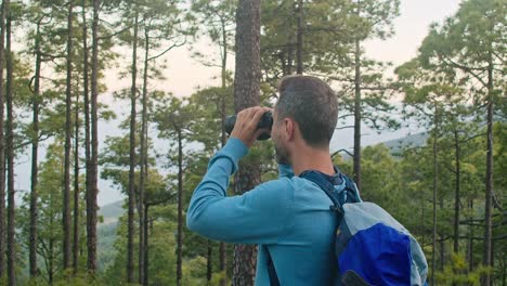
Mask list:
[[[257,129],[260,118],[269,110],[271,110],[271,108],[261,106],[240,110],[237,114],[231,136],[239,139],[245,145],[251,147],[260,134],[270,132],[268,129]]]

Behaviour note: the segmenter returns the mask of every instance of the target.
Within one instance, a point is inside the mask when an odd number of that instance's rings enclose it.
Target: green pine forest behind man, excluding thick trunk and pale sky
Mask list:
[[[238,13],[248,17],[236,18],[238,3],[247,2],[251,11]],[[255,248],[245,253],[188,232],[185,210],[226,141],[225,116],[251,104],[271,106],[277,81],[295,73],[336,89],[337,129],[354,128],[354,148],[340,150],[334,161],[360,180],[363,199],[417,237],[429,282],[506,285],[507,4],[464,0],[429,28],[416,57],[394,68],[367,58],[363,42],[392,36],[399,5],[3,0],[0,285],[249,285],[242,278],[255,272]],[[259,10],[260,23],[252,16]],[[210,49],[200,50],[202,42]],[[179,47],[217,67],[220,84],[168,92],[160,84],[172,76],[165,74],[166,55]],[[233,52],[240,58],[235,72],[227,69]],[[242,66],[257,61],[260,70]],[[104,104],[112,70],[129,80],[113,92],[130,113]],[[98,125],[112,118],[118,134],[99,135]],[[405,121],[424,132],[361,146],[361,123],[382,132]],[[242,172],[258,178],[240,172],[229,194],[276,178],[273,153],[272,142],[257,144]],[[14,166],[25,155],[30,187],[18,190]],[[98,211],[99,176],[126,199]],[[239,273],[237,264],[248,266]]]

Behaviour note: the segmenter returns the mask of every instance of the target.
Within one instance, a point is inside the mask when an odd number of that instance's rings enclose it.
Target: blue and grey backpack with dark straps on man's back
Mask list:
[[[339,171],[328,178],[314,170],[299,177],[324,191],[333,202],[329,209],[339,218],[335,285],[427,285],[428,264],[417,240],[381,207],[362,202],[351,179]],[[334,185],[339,185],[339,190]],[[268,272],[271,285],[280,285],[269,251]]]

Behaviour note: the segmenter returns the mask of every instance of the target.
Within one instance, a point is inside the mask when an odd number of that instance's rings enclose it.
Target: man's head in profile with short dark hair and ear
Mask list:
[[[271,132],[278,161],[290,162],[294,147],[304,145],[328,150],[338,120],[338,102],[333,89],[310,76],[284,77],[274,109]]]

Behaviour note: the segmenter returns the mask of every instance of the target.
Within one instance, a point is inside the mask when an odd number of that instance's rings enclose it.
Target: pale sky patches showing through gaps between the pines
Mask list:
[[[368,57],[392,62],[394,66],[403,64],[417,55],[417,49],[422,39],[428,32],[431,23],[442,23],[447,16],[453,15],[458,6],[459,0],[401,0],[401,15],[394,21],[395,34],[393,37],[380,41],[368,40],[363,43]],[[213,47],[208,47],[206,43],[196,43],[195,49],[213,52]],[[125,62],[130,62],[130,54],[126,50],[118,50],[120,54],[125,53]],[[216,51],[218,52],[218,50]],[[151,87],[162,89],[172,92],[177,96],[188,96],[198,87],[218,86],[217,76],[220,70],[218,68],[205,67],[196,60],[191,57],[191,52],[187,46],[170,51],[165,57],[168,68],[165,72],[166,79],[152,82]],[[234,58],[230,57],[230,69],[234,68]],[[100,96],[100,101],[113,106],[113,109],[118,113],[118,118],[125,118],[129,112],[125,103],[117,102],[110,95],[114,91],[118,91],[129,86],[129,79],[118,79],[117,68],[112,68],[105,73],[105,86],[107,92]],[[109,122],[100,122],[100,147],[107,135],[119,135],[122,131],[118,129],[118,120]],[[363,145],[379,143],[382,141],[402,138],[408,133],[420,131],[416,127],[404,128],[393,132],[384,132],[377,134],[370,132],[367,128],[364,129]],[[335,133],[332,145],[338,148],[350,148],[352,146],[351,130],[343,130]],[[164,144],[158,142],[157,144]],[[39,158],[44,156],[43,148],[39,154]],[[29,157],[22,157],[16,165],[16,188],[22,191],[29,190]],[[99,183],[99,205],[104,206],[122,198],[120,192],[110,186],[110,182],[100,180]]]

